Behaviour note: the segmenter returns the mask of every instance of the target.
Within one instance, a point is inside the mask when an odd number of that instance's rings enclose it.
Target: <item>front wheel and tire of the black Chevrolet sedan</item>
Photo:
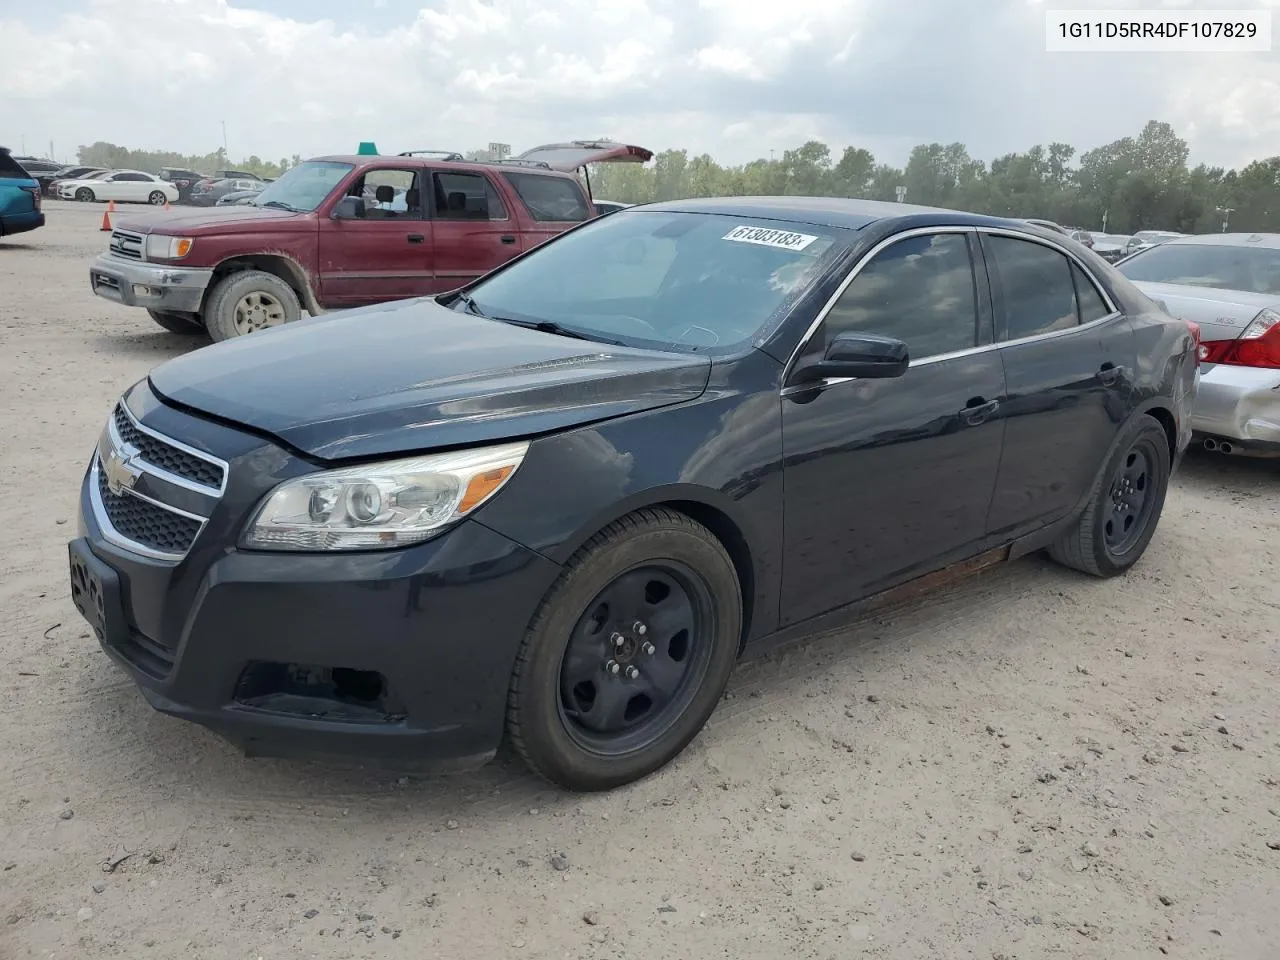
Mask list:
[[[680,594],[672,590],[648,605],[655,595],[652,589],[655,584],[660,586],[667,573],[668,582],[685,591],[694,611],[689,621],[694,626],[675,634],[672,625],[680,621],[669,618],[662,604],[675,598],[678,607]],[[653,630],[648,631],[653,645],[637,643],[646,636],[639,618],[634,630],[611,620],[614,616],[630,620],[628,608],[620,603],[616,612],[611,611],[605,598],[621,590],[620,585],[632,582],[640,584],[643,609],[653,614]],[[648,618],[649,613],[640,616]],[[627,649],[614,632],[618,628],[627,630]],[[666,508],[643,509],[616,521],[573,554],[530,622],[507,695],[507,733],[512,745],[534,772],[568,790],[609,790],[648,776],[680,754],[712,716],[737,662],[741,628],[737,572],[719,540],[705,527]],[[677,652],[681,634],[682,657]],[[584,684],[572,685],[570,676],[573,663],[589,659],[581,658],[582,643],[595,643],[599,644],[595,649],[605,650],[599,667],[594,662],[590,666],[596,671],[589,681],[590,703],[625,699],[621,718],[634,726],[614,733],[586,728],[590,710],[582,709],[581,700],[572,699],[580,695]],[[614,643],[617,660],[612,653]],[[622,673],[609,676],[618,660],[627,660],[628,666]],[[673,664],[680,680],[673,684],[676,692],[669,700],[653,703],[644,692],[635,692],[657,690],[649,686],[653,677],[671,676]],[[632,668],[648,673],[632,680]],[[609,690],[614,691],[612,698]],[[617,696],[617,691],[623,691],[623,696]],[[648,712],[639,722],[626,721],[631,707],[641,701],[652,704]]]

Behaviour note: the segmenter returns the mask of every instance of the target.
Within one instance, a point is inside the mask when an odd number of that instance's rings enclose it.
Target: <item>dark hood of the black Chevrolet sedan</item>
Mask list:
[[[699,397],[709,372],[703,356],[558,337],[424,298],[227,340],[156,367],[150,383],[172,403],[333,461],[636,413]]]

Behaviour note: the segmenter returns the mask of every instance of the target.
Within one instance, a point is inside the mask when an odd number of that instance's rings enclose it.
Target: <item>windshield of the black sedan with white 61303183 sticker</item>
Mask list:
[[[458,308],[678,351],[771,326],[845,250],[845,232],[781,220],[623,210],[472,287]]]

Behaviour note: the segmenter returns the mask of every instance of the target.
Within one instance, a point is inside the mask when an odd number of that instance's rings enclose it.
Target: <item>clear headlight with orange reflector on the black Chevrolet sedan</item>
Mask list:
[[[511,479],[529,443],[366,463],[280,484],[244,532],[265,550],[376,550],[421,543]]]

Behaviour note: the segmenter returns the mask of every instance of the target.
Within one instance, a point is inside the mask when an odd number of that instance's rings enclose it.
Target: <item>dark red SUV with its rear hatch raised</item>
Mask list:
[[[433,151],[316,157],[251,205],[122,220],[90,283],[166,330],[215,340],[303,310],[443,293],[596,216],[575,170],[652,156],[573,141],[485,164]]]

